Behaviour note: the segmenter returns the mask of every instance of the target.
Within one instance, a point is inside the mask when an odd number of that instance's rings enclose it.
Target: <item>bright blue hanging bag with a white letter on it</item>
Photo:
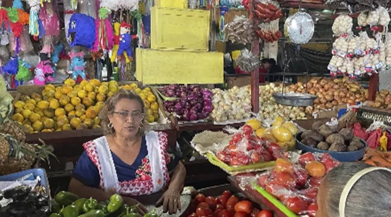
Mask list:
[[[92,49],[96,39],[95,20],[85,14],[73,14],[70,18],[67,38],[70,47],[85,46]]]

